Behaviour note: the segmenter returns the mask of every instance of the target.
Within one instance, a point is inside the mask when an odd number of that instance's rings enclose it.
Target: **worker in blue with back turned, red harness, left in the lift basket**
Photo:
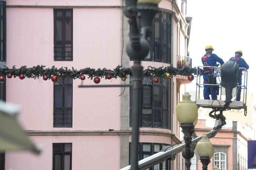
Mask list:
[[[220,63],[220,65],[224,64],[224,61],[218,57],[216,54],[213,54],[213,47],[212,46],[206,46],[205,51],[206,54],[202,57],[202,63],[204,66],[217,66],[217,63]],[[208,84],[208,77],[213,75],[213,69],[210,67],[204,67],[203,70],[203,79],[204,84]],[[216,77],[212,77],[216,80]],[[204,99],[210,100],[210,94],[211,94],[211,100],[217,100],[217,93],[216,88],[209,87],[208,85],[204,85]]]

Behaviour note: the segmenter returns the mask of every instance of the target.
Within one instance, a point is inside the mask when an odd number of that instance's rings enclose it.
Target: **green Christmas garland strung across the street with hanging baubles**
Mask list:
[[[126,77],[132,76],[131,68],[123,68],[122,66],[117,66],[114,70],[104,69],[91,69],[85,68],[76,70],[72,67],[72,69],[68,69],[67,67],[61,67],[60,69],[52,66],[51,68],[45,68],[45,66],[34,66],[31,68],[27,68],[26,66],[22,66],[19,69],[16,69],[13,66],[12,69],[8,67],[0,68],[0,76],[6,76],[7,74],[12,74],[14,77],[20,76],[21,74],[27,78],[39,78],[42,76],[47,76],[49,79],[52,76],[62,76],[62,77],[72,77],[73,79],[80,78],[81,75],[87,76],[87,78],[93,79],[93,77],[104,77],[106,79],[107,75],[111,75],[112,78],[117,77]],[[174,68],[173,65],[167,67],[151,67],[149,66],[147,69],[143,70],[143,76],[154,76],[154,77],[165,77],[165,74],[169,73],[172,76],[183,75],[188,76],[190,74],[196,74],[196,67],[190,68],[185,67],[183,69]]]

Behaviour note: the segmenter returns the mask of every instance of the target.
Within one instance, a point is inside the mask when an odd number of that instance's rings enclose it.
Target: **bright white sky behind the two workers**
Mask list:
[[[191,23],[188,51],[193,67],[202,66],[204,47],[211,45],[213,53],[224,61],[243,51],[243,59],[249,64],[248,91],[253,91],[256,71],[256,0],[188,0],[187,16]],[[195,91],[190,83],[187,91]]]

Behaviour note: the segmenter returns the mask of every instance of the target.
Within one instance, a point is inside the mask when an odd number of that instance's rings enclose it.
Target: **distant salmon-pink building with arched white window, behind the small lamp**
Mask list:
[[[247,140],[253,140],[254,132],[249,126],[239,121],[226,120],[227,124],[210,139],[214,147],[214,154],[208,169],[218,166],[220,170],[247,170]],[[213,119],[201,119],[195,127],[197,136],[207,133],[214,127]],[[202,169],[199,156],[195,151],[191,160],[194,168]]]

